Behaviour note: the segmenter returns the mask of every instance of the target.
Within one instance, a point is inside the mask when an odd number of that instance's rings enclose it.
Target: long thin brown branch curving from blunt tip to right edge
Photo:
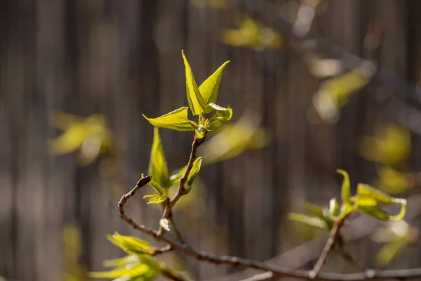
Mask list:
[[[307,270],[288,270],[285,268],[279,268],[277,266],[272,266],[267,263],[263,263],[260,261],[250,261],[248,259],[241,259],[235,256],[213,256],[211,254],[207,254],[201,251],[196,251],[190,247],[187,247],[182,244],[178,244],[177,242],[171,240],[170,238],[158,236],[156,230],[152,228],[148,228],[147,226],[139,225],[135,223],[131,218],[128,218],[124,213],[124,204],[126,204],[127,200],[135,195],[135,192],[139,190],[143,185],[146,185],[151,180],[151,176],[145,176],[138,181],[138,184],[128,192],[126,195],[121,197],[119,202],[119,214],[123,221],[126,221],[130,226],[133,228],[140,230],[142,233],[150,235],[154,237],[156,240],[165,242],[175,251],[180,251],[187,256],[191,256],[194,259],[199,261],[207,261],[209,263],[214,263],[217,265],[227,265],[232,266],[234,268],[253,268],[256,270],[264,270],[272,272],[274,277],[297,277],[303,280],[312,280],[311,273],[312,271]],[[366,273],[353,273],[353,274],[335,274],[335,273],[319,273],[316,276],[316,280],[322,281],[363,281],[368,279],[389,279],[389,278],[398,278],[398,279],[409,279],[421,277],[421,268],[415,269],[408,269],[408,270],[369,270]]]

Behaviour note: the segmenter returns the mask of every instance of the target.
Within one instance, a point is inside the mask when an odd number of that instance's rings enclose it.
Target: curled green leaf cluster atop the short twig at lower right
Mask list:
[[[313,216],[291,213],[288,214],[288,218],[293,221],[307,223],[310,226],[331,229],[334,223],[342,223],[345,218],[356,211],[373,216],[381,221],[399,221],[405,216],[406,200],[391,197],[364,183],[359,183],[356,195],[351,196],[349,175],[346,171],[340,169],[337,171],[344,176],[341,189],[342,204],[339,204],[336,198],[331,199],[328,208],[323,209],[306,203],[305,209],[311,212]],[[387,211],[380,209],[382,206],[394,204],[401,206],[399,214],[389,214]]]

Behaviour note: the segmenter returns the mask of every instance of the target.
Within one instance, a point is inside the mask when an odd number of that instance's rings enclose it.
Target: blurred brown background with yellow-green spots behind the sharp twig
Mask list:
[[[339,197],[345,169],[353,192],[408,199],[398,224],[356,216],[345,248],[368,268],[420,266],[420,12],[417,0],[0,1],[0,280],[88,280],[123,254],[105,235],[153,242],[116,203],[147,173],[142,114],[187,106],[182,49],[197,84],[231,60],[218,105],[234,110],[175,208],[189,244],[312,268],[326,231],[287,214]],[[187,164],[193,133],[160,133],[169,169]],[[146,189],[127,212],[157,228]],[[249,275],[160,259],[194,280]],[[335,254],[325,270],[356,271]]]

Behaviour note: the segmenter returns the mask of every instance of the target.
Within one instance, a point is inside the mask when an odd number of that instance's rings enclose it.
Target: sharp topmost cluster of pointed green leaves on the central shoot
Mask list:
[[[218,70],[213,72],[213,74],[198,87],[184,51],[181,53],[185,63],[187,100],[192,115],[199,116],[199,122],[196,123],[188,118],[187,111],[189,107],[180,107],[177,110],[173,110],[172,112],[168,112],[166,115],[157,118],[148,118],[145,115],[143,115],[143,117],[156,127],[172,129],[175,131],[196,131],[196,136],[198,138],[203,138],[206,131],[217,129],[232,117],[231,108],[225,108],[216,104],[222,72],[229,61],[223,63]],[[206,118],[205,114],[211,112],[214,112],[214,115],[210,118]]]

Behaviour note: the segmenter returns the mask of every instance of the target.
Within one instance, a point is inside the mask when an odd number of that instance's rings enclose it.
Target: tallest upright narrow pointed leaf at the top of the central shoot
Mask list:
[[[192,110],[193,115],[201,115],[206,109],[206,103],[201,96],[199,88],[197,88],[192,68],[189,65],[189,61],[187,60],[184,51],[181,51],[181,54],[185,63],[187,100],[189,101],[190,110]]]

